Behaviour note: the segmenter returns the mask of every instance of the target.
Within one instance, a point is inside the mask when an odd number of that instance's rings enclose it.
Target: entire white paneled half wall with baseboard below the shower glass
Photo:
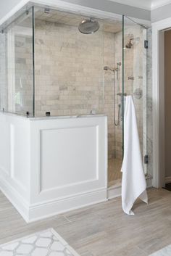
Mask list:
[[[0,189],[27,221],[107,200],[107,117],[0,113]]]

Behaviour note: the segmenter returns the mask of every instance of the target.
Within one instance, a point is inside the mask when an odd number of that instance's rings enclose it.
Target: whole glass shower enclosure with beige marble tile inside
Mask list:
[[[146,28],[125,16],[98,19],[31,7],[1,26],[0,110],[28,117],[107,115],[109,186],[120,186],[125,96],[132,95],[146,173]]]

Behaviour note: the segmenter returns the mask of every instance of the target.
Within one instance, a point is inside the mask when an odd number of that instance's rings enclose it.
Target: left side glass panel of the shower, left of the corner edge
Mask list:
[[[3,49],[4,51],[1,51]],[[0,38],[1,110],[33,115],[33,9],[4,29]]]

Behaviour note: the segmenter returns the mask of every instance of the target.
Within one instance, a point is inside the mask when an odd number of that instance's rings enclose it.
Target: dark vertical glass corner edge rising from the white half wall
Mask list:
[[[35,8],[32,7],[33,26],[33,117],[35,117]]]

